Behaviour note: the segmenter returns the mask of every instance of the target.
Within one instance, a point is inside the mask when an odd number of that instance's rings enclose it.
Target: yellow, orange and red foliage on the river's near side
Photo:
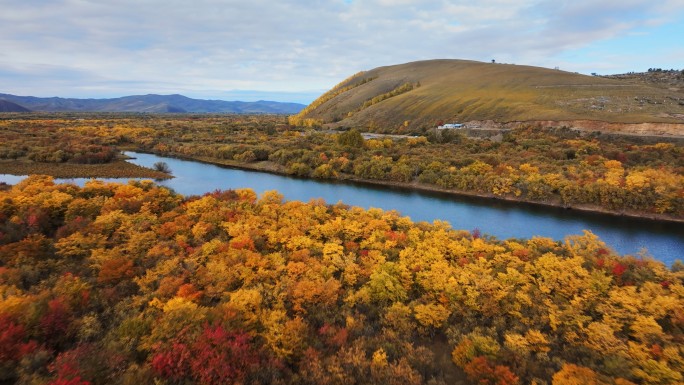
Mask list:
[[[6,383],[684,381],[684,272],[589,232],[44,176],[0,208]]]

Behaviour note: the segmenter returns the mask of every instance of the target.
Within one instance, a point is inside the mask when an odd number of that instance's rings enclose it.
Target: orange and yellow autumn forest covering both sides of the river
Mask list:
[[[0,120],[0,174],[169,177],[129,149],[684,217],[676,143],[369,130],[385,135],[271,115],[15,115]],[[275,191],[52,176],[0,185],[0,383],[684,383],[684,265],[588,231],[498,240]]]

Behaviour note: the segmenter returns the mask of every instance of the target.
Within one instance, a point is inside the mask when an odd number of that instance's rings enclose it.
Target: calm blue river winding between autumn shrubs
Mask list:
[[[684,259],[683,223],[358,182],[301,179],[137,152],[126,152],[126,155],[134,158],[131,163],[145,167],[166,162],[174,178],[158,183],[183,195],[202,195],[217,189],[251,188],[257,193],[277,190],[286,200],[322,198],[333,204],[342,202],[364,208],[397,210],[415,222],[443,220],[455,229],[478,229],[499,239],[543,236],[562,240],[568,235],[582,234],[586,229],[620,254],[639,255],[645,249],[647,255],[667,265]],[[21,179],[0,175],[0,181],[7,183],[17,183]],[[67,179],[81,185],[86,180]]]

